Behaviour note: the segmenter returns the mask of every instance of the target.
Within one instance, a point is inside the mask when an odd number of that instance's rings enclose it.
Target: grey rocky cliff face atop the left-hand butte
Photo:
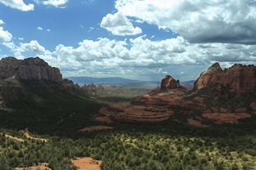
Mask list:
[[[38,57],[25,60],[7,57],[0,60],[0,78],[11,77],[25,81],[44,80],[53,83],[60,83],[62,81],[60,70],[49,66]]]

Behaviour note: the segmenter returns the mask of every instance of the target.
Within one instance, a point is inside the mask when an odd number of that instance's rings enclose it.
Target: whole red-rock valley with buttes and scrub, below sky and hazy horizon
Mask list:
[[[0,78],[0,169],[256,168],[254,65],[216,63],[191,90],[167,75],[124,103],[38,57],[3,58]]]

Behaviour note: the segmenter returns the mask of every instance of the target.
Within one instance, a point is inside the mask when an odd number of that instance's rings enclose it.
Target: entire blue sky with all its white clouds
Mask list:
[[[63,77],[194,80],[256,63],[256,0],[0,0],[0,59],[38,56]]]

